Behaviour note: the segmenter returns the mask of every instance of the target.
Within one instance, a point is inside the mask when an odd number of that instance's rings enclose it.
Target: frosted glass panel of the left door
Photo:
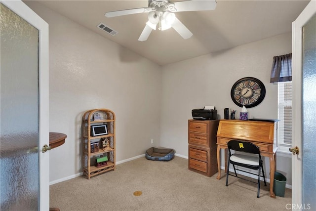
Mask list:
[[[39,30],[0,6],[0,210],[40,210]]]

